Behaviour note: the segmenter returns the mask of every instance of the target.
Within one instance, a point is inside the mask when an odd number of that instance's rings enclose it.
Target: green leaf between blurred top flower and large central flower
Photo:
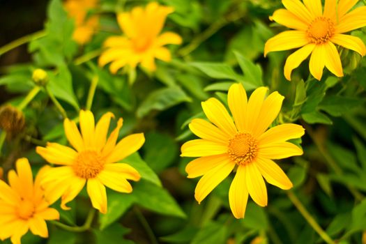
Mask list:
[[[178,105],[181,102],[190,102],[191,99],[178,86],[167,87],[151,92],[137,109],[137,116],[142,118],[152,110],[162,111]]]

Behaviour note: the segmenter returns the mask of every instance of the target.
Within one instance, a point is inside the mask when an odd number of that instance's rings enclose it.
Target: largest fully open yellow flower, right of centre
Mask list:
[[[266,93],[266,87],[259,87],[247,100],[241,84],[231,85],[227,101],[234,121],[216,98],[201,103],[209,122],[193,119],[190,130],[201,139],[185,142],[181,148],[183,157],[200,157],[185,168],[188,178],[202,176],[195,190],[199,203],[234,169],[229,204],[235,218],[244,218],[248,195],[259,206],[267,205],[264,178],[284,190],[292,187],[273,159],[303,154],[301,148],[286,141],[301,137],[304,129],[287,123],[267,130],[284,97],[275,91],[265,98]]]

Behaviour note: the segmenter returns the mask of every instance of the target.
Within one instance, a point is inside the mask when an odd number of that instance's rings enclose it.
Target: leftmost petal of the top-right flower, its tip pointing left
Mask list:
[[[268,52],[284,51],[303,47],[308,43],[309,41],[307,40],[305,31],[283,31],[267,40],[264,45],[264,56],[266,56]]]

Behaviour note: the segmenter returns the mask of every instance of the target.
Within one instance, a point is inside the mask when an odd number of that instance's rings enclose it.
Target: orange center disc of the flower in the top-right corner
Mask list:
[[[326,43],[334,33],[334,23],[327,17],[317,17],[307,27],[310,43]]]

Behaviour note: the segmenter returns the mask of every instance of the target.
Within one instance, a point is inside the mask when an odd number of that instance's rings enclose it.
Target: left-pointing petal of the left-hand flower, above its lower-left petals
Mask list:
[[[46,148],[37,146],[36,152],[55,165],[73,165],[77,158],[77,152],[73,148],[57,143],[47,143]]]

